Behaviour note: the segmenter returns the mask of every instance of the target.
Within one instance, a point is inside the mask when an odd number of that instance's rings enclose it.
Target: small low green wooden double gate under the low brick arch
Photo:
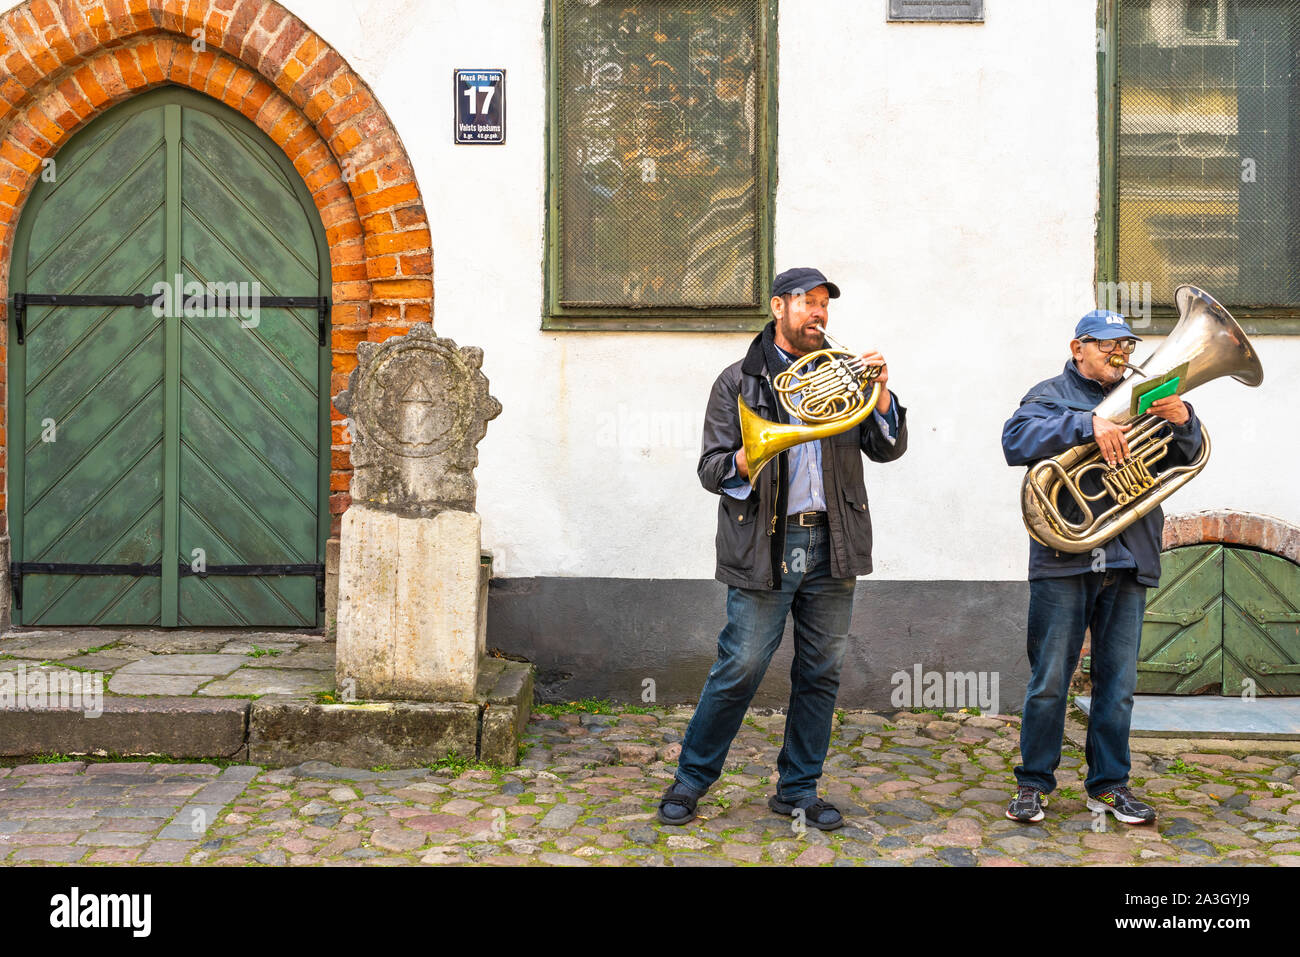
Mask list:
[[[1164,553],[1138,690],[1300,694],[1300,566],[1222,545]]]

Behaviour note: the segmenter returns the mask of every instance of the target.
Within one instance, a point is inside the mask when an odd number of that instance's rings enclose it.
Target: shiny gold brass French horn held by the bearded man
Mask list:
[[[749,460],[749,484],[768,462],[801,442],[836,436],[852,429],[875,411],[880,398],[880,365],[863,365],[855,354],[818,328],[832,348],[820,348],[796,359],[788,369],[772,377],[772,390],[792,417],[806,425],[785,425],[763,419],[736,397],[740,406],[740,434]],[[827,361],[818,365],[822,359]],[[816,368],[812,368],[816,367]],[[870,390],[868,390],[870,384]],[[802,393],[796,403],[793,395]]]

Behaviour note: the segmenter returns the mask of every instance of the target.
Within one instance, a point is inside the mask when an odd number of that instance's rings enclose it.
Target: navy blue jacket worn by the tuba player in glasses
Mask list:
[[[1114,386],[1112,386],[1114,387]],[[1040,459],[1060,455],[1066,449],[1092,441],[1092,410],[1109,389],[1083,376],[1074,359],[1054,378],[1046,378],[1026,393],[1015,415],[1002,426],[1002,452],[1008,465],[1032,465]],[[1191,417],[1182,425],[1166,424],[1174,434],[1167,454],[1158,463],[1160,473],[1171,465],[1186,465],[1201,449],[1201,424],[1196,410],[1187,403]],[[1070,502],[1069,497],[1062,497]],[[1072,506],[1072,502],[1070,502]],[[1114,505],[1109,495],[1095,502],[1093,510]],[[1063,508],[1063,505],[1062,505]],[[1105,544],[1105,568],[1136,568],[1143,585],[1160,584],[1160,542],[1165,514],[1153,508]],[[1057,579],[1093,571],[1096,558],[1091,551],[1071,554],[1057,551],[1030,538],[1030,580]]]

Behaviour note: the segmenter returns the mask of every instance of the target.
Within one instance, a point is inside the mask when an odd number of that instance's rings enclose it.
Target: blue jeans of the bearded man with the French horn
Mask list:
[[[794,612],[794,661],[785,741],[776,761],[776,794],[783,801],[816,797],[822,762],[831,745],[840,666],[853,615],[857,579],[831,577],[826,525],[789,525],[780,590],[727,589],[727,627],[718,636],[718,661],[699,694],[681,742],[677,781],[698,796],[718,780],[745,709],[772,659],[785,619]]]

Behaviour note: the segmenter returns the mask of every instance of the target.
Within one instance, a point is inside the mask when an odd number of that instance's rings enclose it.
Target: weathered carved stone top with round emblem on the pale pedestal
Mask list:
[[[478,442],[500,403],[484,354],[421,322],[384,343],[361,342],[334,406],[352,434],[352,501],[406,515],[473,511]]]

